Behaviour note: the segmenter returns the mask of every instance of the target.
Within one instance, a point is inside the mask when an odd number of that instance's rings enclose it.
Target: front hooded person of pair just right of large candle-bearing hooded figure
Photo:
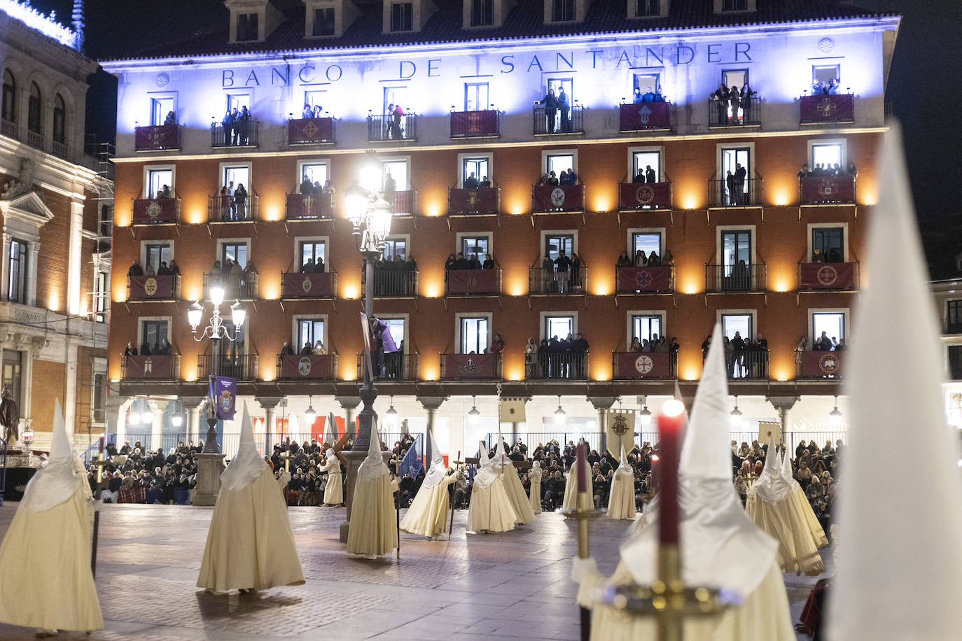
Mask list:
[[[745,511],[756,526],[778,541],[778,564],[783,572],[814,577],[825,569],[819,548],[828,540],[818,520],[815,520],[818,530],[813,534],[805,515],[806,511],[812,511],[812,506],[804,500],[799,505],[793,498],[795,488],[792,481],[782,476],[781,467],[778,448],[769,437],[765,468],[748,488]],[[811,518],[815,519],[814,513]]]

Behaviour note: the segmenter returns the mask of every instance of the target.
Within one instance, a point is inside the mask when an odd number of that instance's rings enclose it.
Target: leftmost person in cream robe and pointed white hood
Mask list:
[[[50,458],[27,483],[0,543],[0,622],[38,634],[104,627],[90,571],[92,500],[58,399]]]

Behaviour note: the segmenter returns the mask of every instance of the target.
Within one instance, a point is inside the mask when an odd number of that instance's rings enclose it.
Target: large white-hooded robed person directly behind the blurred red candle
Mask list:
[[[722,330],[716,325],[678,468],[681,576],[686,585],[731,590],[741,595],[742,604],[721,615],[686,620],[685,638],[795,641],[776,558],[778,544],[747,519],[731,481],[729,421]],[[628,641],[657,636],[653,617],[631,617],[597,603],[599,588],[631,581],[651,585],[657,577],[657,496],[645,516],[621,546],[620,564],[611,578],[598,573],[594,559],[574,561],[573,578],[580,583],[578,603],[594,610],[592,639]]]

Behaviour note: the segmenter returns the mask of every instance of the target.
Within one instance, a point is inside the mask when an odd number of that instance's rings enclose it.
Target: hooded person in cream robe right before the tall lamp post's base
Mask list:
[[[367,458],[358,468],[354,483],[351,523],[347,530],[348,555],[386,555],[397,547],[393,494],[391,471],[381,455],[381,440],[372,420]]]

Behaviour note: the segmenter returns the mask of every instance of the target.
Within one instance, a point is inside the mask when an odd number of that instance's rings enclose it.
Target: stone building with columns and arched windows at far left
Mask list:
[[[80,52],[79,33],[0,2],[2,385],[40,449],[55,399],[78,445],[106,425],[114,186],[107,159],[85,153],[97,63]]]

